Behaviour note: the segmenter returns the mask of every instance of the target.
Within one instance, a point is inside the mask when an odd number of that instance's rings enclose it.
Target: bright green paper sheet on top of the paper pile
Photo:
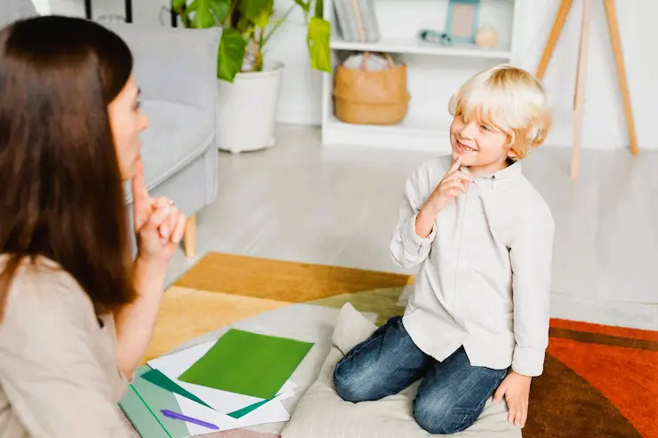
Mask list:
[[[178,379],[231,393],[269,399],[313,344],[231,329]]]

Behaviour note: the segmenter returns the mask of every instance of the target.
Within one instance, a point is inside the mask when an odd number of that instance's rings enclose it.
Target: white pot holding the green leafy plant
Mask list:
[[[218,147],[232,154],[274,146],[281,73],[273,62],[261,72],[238,73],[233,84],[217,81]]]

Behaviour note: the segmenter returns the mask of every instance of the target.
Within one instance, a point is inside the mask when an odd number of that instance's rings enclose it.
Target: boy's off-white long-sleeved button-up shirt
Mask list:
[[[549,207],[513,163],[475,178],[422,239],[416,216],[451,164],[451,156],[421,163],[406,183],[390,242],[398,265],[421,266],[405,330],[437,361],[464,346],[473,366],[538,376],[549,340]]]

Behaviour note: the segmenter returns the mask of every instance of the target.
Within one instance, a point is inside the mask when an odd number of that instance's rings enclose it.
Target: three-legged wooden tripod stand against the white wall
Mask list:
[[[542,53],[542,60],[539,62],[537,68],[537,78],[542,79],[546,74],[546,69],[549,67],[550,57],[553,55],[555,45],[558,44],[558,39],[562,28],[565,25],[566,17],[569,15],[572,0],[561,0],[558,13],[553,23],[553,28],[550,30],[550,36],[544,47]],[[622,92],[623,112],[626,118],[626,127],[629,133],[630,153],[638,155],[638,139],[635,134],[635,125],[633,123],[633,112],[630,104],[630,92],[628,82],[626,80],[626,71],[623,65],[623,52],[622,40],[619,35],[619,24],[617,23],[617,12],[614,7],[614,0],[603,0],[606,7],[606,20],[608,33],[610,34],[610,42],[613,46],[614,66],[617,70],[617,80],[619,81],[619,88]],[[581,136],[582,136],[582,117],[584,115],[584,102],[585,102],[585,80],[587,77],[587,50],[588,42],[590,39],[590,16],[591,16],[592,0],[584,0],[582,7],[582,21],[581,21],[581,45],[578,55],[578,70],[576,72],[576,86],[574,96],[574,148],[571,155],[571,179],[578,178],[578,171],[581,161]]]

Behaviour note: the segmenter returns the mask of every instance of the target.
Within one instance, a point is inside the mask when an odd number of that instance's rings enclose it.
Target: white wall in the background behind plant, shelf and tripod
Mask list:
[[[35,0],[35,3],[45,1]],[[520,67],[534,72],[542,55],[543,44],[550,33],[559,1],[517,2],[523,8],[524,17],[521,35],[517,36],[522,47],[518,63]],[[652,129],[653,105],[658,101],[658,88],[651,82],[651,79],[658,76],[658,61],[654,58],[654,44],[658,41],[658,28],[654,26],[655,17],[658,16],[658,2],[618,0],[616,3],[639,147],[658,149],[658,130]],[[82,0],[50,0],[49,4],[53,13],[84,12]],[[93,0],[94,15],[104,12],[121,13],[123,4],[123,0]],[[158,25],[158,14],[166,4],[169,4],[168,0],[133,0],[135,23]],[[293,4],[293,0],[277,0],[277,10],[281,13],[290,4]],[[626,125],[603,2],[593,0],[593,4],[583,147],[627,147]],[[548,139],[550,144],[569,146],[573,141],[571,108],[581,11],[582,0],[574,0],[566,27],[544,79],[557,119],[555,129]],[[164,23],[168,23],[166,14]],[[284,123],[315,124],[320,122],[321,76],[309,67],[306,29],[301,23],[301,12],[293,13],[289,22],[279,29],[269,48],[269,55],[282,60],[287,67],[277,120]]]

